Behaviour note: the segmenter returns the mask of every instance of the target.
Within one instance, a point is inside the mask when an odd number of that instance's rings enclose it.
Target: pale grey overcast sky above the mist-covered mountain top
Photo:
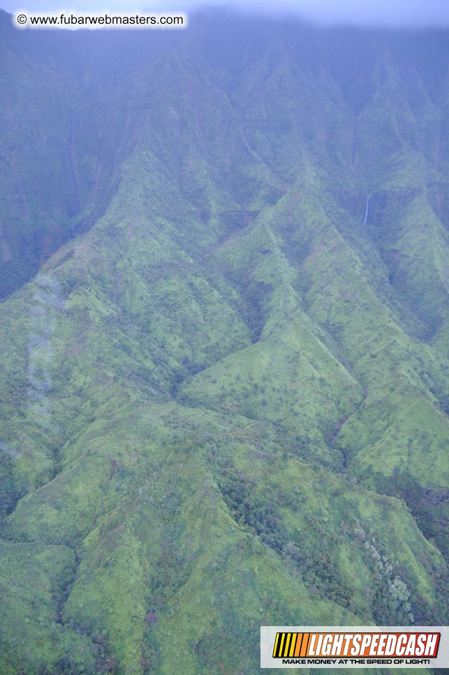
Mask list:
[[[101,12],[114,10],[182,10],[198,6],[235,6],[260,13],[294,12],[326,23],[387,26],[449,26],[449,0],[0,0],[10,13],[17,9],[48,12],[64,8]]]

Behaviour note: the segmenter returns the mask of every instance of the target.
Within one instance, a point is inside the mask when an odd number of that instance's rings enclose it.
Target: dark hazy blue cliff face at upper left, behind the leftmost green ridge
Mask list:
[[[144,36],[117,32],[17,31],[3,10],[0,30],[4,298],[104,213],[115,185],[119,144],[102,149],[105,106],[92,104],[142,61],[154,59],[157,45],[169,43],[170,36],[159,34],[149,43]],[[118,132],[119,127],[115,137]]]

